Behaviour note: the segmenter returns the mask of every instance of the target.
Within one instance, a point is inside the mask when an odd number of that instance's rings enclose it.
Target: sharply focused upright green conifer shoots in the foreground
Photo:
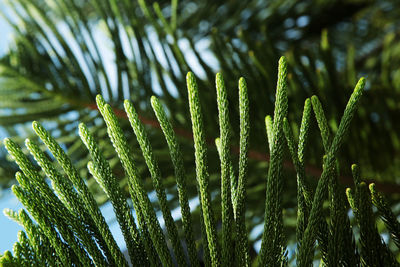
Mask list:
[[[189,208],[189,186],[183,153],[166,111],[160,100],[151,98],[151,106],[159,121],[168,145],[170,161],[174,169],[174,180],[181,207],[181,224],[174,221],[171,205],[166,197],[163,174],[158,165],[158,155],[153,152],[150,136],[142,124],[133,104],[125,101],[127,117],[133,128],[142,151],[156,192],[158,204],[165,221],[165,232],[160,226],[153,203],[150,201],[144,181],[138,171],[137,158],[133,157],[132,146],[128,143],[114,110],[98,95],[97,105],[104,118],[107,133],[128,179],[133,211],[122,194],[111,166],[103,155],[98,141],[81,123],[79,135],[86,146],[91,161],[87,167],[105,194],[108,196],[117,221],[125,239],[129,259],[135,266],[286,266],[293,259],[288,256],[287,236],[283,195],[284,180],[290,179],[283,171],[285,143],[295,168],[297,184],[296,236],[298,266],[310,266],[320,260],[323,266],[398,266],[393,252],[382,241],[375,225],[372,204],[378,208],[380,216],[387,225],[388,232],[398,246],[399,223],[387,202],[370,186],[361,180],[358,167],[352,167],[355,188],[347,189],[347,199],[355,215],[360,234],[354,236],[345,191],[338,183],[338,151],[348,134],[350,122],[355,116],[365,79],[357,83],[344,110],[338,129],[334,135],[327,126],[322,104],[313,96],[306,99],[303,117],[296,141],[288,120],[287,62],[279,61],[275,112],[267,117],[267,135],[270,142],[271,162],[268,167],[266,187],[264,232],[261,250],[258,255],[251,253],[249,240],[248,176],[250,140],[250,101],[248,87],[244,78],[239,80],[239,158],[231,153],[231,137],[234,135],[230,123],[230,103],[228,90],[221,74],[216,76],[217,107],[219,110],[220,134],[217,147],[220,157],[219,196],[211,195],[209,161],[206,145],[205,127],[200,102],[199,88],[194,74],[187,74],[188,104],[192,121],[194,139],[194,164],[196,168],[197,192],[200,202],[200,221],[192,217],[195,212]],[[318,122],[322,143],[325,147],[323,172],[315,189],[310,183],[305,168],[305,151],[310,146],[309,135],[312,110]],[[6,209],[4,213],[21,224],[25,231],[18,234],[13,253],[6,251],[1,257],[3,265],[71,265],[71,266],[126,266],[128,265],[121,249],[116,245],[109,227],[90,192],[85,180],[78,173],[66,152],[51,134],[38,122],[33,129],[42,140],[52,158],[31,140],[25,145],[38,163],[35,166],[23,150],[11,139],[4,144],[18,164],[16,174],[18,185],[12,190],[29,214],[21,209],[18,213]],[[192,163],[193,164],[193,163]],[[266,172],[266,171],[265,171]],[[237,173],[237,174],[236,174]],[[51,184],[48,183],[49,179]],[[219,201],[221,204],[219,204]],[[324,203],[329,203],[327,215]],[[220,205],[221,209],[218,209]],[[133,216],[133,212],[136,216]],[[216,213],[221,216],[215,216]],[[219,218],[221,220],[219,221]],[[219,227],[221,223],[221,227]],[[178,231],[182,225],[184,236]],[[200,228],[200,235],[194,228]],[[355,242],[357,240],[357,242]],[[317,244],[316,244],[316,241]],[[199,243],[197,243],[199,242]],[[202,247],[199,244],[202,244]],[[317,253],[315,253],[317,252]],[[319,255],[319,253],[320,255]],[[200,256],[202,255],[202,256]],[[317,256],[315,256],[317,255]]]

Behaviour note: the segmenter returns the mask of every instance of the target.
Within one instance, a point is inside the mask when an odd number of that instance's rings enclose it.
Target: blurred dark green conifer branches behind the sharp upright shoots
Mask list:
[[[175,190],[173,168],[161,130],[151,111],[157,95],[168,108],[186,160],[189,190],[196,195],[191,125],[185,75],[198,77],[209,139],[209,171],[219,197],[219,160],[215,73],[221,71],[231,105],[231,122],[238,133],[237,81],[244,76],[251,105],[251,153],[248,182],[250,229],[261,223],[268,167],[264,118],[273,112],[277,63],[289,61],[289,121],[295,135],[304,100],[313,94],[323,104],[332,131],[361,76],[367,87],[346,144],[338,157],[341,181],[350,186],[352,163],[363,178],[377,181],[392,203],[400,193],[400,3],[397,0],[276,0],[276,1],[128,1],[128,0],[8,0],[3,19],[13,27],[9,51],[0,59],[0,125],[3,136],[19,143],[40,120],[58,141],[96,194],[105,196],[89,177],[88,153],[77,135],[79,122],[96,129],[97,140],[113,171],[126,187],[94,98],[102,94],[112,104],[130,134],[123,99],[135,104],[160,161],[168,190]],[[314,121],[307,150],[311,182],[321,172],[323,147]],[[129,133],[129,134],[128,134]],[[234,134],[233,143],[238,144]],[[133,150],[151,191],[149,174],[138,149]],[[237,148],[232,154],[237,156]],[[287,153],[284,203],[295,218],[296,179]],[[0,151],[0,185],[14,183],[17,166]],[[311,178],[313,177],[313,178]],[[127,190],[125,191],[127,192]],[[171,205],[177,206],[176,194]],[[157,205],[157,203],[154,203]],[[398,214],[400,207],[394,206]],[[215,207],[216,210],[220,207]],[[218,214],[218,212],[216,212]],[[285,215],[285,216],[286,216]],[[291,216],[293,215],[293,216]],[[294,233],[295,220],[287,220]],[[290,236],[290,235],[289,235]],[[255,236],[251,236],[257,239]]]

